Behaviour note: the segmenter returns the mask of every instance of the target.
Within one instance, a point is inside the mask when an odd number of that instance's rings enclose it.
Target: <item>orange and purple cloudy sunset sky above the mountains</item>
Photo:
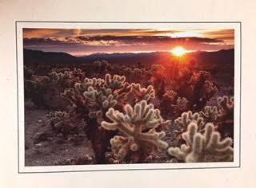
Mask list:
[[[140,53],[171,51],[182,46],[188,52],[234,49],[234,29],[23,29],[26,49],[91,53]]]

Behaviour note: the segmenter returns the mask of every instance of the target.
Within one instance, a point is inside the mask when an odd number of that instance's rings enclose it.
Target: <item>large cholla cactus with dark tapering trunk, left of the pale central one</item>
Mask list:
[[[86,78],[62,94],[72,104],[72,117],[79,116],[87,122],[86,135],[92,143],[96,163],[103,163],[109,140],[115,133],[103,129],[100,123],[109,108],[122,108],[129,92],[130,84],[126,83],[125,76],[106,74],[105,79]]]

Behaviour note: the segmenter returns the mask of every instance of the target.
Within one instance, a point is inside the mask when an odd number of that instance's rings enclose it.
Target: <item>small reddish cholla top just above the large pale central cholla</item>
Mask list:
[[[136,99],[136,102],[146,100],[149,101],[150,99],[154,98],[154,88],[152,85],[149,85],[147,88],[142,88],[141,84],[131,84],[130,90]]]

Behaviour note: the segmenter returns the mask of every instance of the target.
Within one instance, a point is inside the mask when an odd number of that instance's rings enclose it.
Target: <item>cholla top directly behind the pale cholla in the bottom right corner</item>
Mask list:
[[[186,131],[191,122],[197,123],[199,131],[202,131],[205,125],[202,117],[198,113],[193,114],[191,111],[183,112],[181,117],[174,120],[174,123],[176,123],[182,131]]]

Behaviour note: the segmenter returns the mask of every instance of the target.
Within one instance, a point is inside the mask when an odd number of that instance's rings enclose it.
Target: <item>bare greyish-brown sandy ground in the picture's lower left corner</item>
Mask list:
[[[56,138],[46,123],[46,110],[26,109],[25,125],[25,165],[26,166],[51,166],[64,163],[70,159],[79,159],[86,154],[93,156],[90,141],[85,139],[79,145],[74,143],[61,143],[62,140]],[[35,136],[39,133],[46,133],[46,139],[42,142],[35,142]],[[58,163],[57,163],[58,162]]]

